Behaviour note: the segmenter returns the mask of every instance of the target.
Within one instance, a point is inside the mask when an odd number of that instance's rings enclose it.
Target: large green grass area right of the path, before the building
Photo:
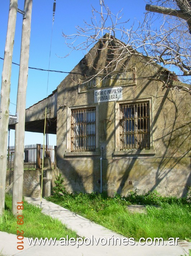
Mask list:
[[[125,237],[136,240],[141,237],[191,239],[191,206],[185,198],[163,198],[154,191],[147,195],[133,192],[126,198],[120,195],[111,198],[103,194],[79,193],[49,197],[48,200]],[[146,214],[127,210],[128,204],[143,202],[147,202]]]

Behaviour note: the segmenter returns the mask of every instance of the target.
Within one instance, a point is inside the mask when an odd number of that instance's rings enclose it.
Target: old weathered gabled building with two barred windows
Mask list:
[[[26,110],[26,130],[43,131],[47,105],[70,192],[126,195],[136,187],[185,195],[190,95],[166,88],[185,84],[123,46],[109,35],[99,41],[47,99]]]

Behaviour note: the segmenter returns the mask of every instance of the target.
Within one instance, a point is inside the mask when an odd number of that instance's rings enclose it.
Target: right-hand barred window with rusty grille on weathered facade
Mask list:
[[[120,150],[150,149],[149,102],[120,105]]]

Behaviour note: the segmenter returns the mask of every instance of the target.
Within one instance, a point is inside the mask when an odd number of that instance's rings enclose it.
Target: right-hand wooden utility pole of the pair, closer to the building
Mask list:
[[[32,0],[25,0],[17,92],[16,112],[18,120],[15,124],[15,157],[12,202],[12,211],[14,215],[22,215],[22,209],[18,209],[17,206],[18,202],[22,202],[23,200],[25,108],[28,79],[29,44],[31,35],[31,14]]]

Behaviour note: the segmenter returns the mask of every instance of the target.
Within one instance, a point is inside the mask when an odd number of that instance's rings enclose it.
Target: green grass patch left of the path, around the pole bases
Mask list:
[[[24,210],[22,215],[24,216],[24,224],[18,225],[17,217],[13,216],[11,212],[12,198],[10,195],[6,195],[4,216],[0,218],[0,231],[17,234],[17,230],[23,230],[24,237],[42,237],[43,239],[45,237],[48,237],[48,239],[50,237],[66,238],[66,235],[76,238],[75,231],[67,229],[59,220],[43,215],[40,207],[28,204],[25,200],[23,202]]]

